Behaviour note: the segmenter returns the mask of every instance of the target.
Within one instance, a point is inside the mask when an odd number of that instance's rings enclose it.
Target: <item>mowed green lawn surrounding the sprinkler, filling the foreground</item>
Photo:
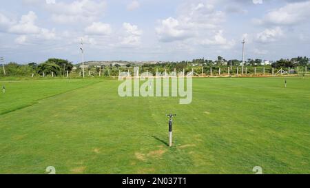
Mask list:
[[[97,81],[6,83],[3,112],[14,98],[37,103],[0,115],[0,174],[310,173],[309,78],[287,88],[283,78],[194,79],[190,105],[121,98],[120,82]],[[167,113],[177,114],[172,148]]]

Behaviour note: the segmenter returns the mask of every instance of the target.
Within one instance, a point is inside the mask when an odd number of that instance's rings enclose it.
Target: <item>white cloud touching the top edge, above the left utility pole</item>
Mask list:
[[[71,3],[56,2],[46,5],[56,23],[90,23],[105,11],[105,1],[76,0]]]

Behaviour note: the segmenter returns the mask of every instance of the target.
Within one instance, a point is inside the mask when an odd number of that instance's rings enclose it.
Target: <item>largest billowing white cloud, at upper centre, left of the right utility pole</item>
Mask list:
[[[158,39],[162,42],[180,41],[191,45],[217,45],[227,50],[235,45],[234,40],[226,39],[221,27],[226,19],[225,12],[216,10],[212,4],[185,4],[178,11],[177,19],[169,17],[161,20],[156,27]]]

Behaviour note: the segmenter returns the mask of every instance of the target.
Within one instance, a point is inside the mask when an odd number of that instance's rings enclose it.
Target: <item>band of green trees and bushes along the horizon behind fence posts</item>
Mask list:
[[[262,66],[263,61],[261,59],[247,59],[245,62],[246,65],[250,65],[251,67],[258,67]],[[85,64],[87,65],[87,64]],[[218,56],[218,59],[216,61],[208,60],[208,59],[193,59],[192,61],[168,61],[168,62],[158,62],[154,64],[145,63],[143,65],[135,65],[134,63],[127,63],[124,66],[121,66],[119,64],[110,64],[110,65],[101,65],[101,66],[87,66],[85,68],[85,75],[88,75],[90,72],[92,76],[99,75],[99,72],[102,76],[117,76],[119,71],[125,72],[130,70],[132,73],[133,67],[139,66],[141,67],[141,72],[149,71],[150,73],[156,73],[158,72],[165,72],[167,70],[168,72],[172,72],[174,70],[177,70],[178,72],[185,70],[185,72],[191,72],[192,69],[200,72],[201,67],[205,67],[205,70],[209,70],[210,67],[214,67],[215,69],[217,67],[227,67],[227,66],[240,66],[242,65],[242,61],[238,59],[231,59],[226,60],[222,56]],[[271,64],[271,66],[267,67],[273,67],[275,69],[280,68],[288,68],[288,67],[298,67],[298,66],[307,66],[309,65],[309,58],[306,56],[298,56],[296,58],[292,59],[280,59],[278,61],[275,61]],[[251,71],[251,67],[249,67],[249,71]],[[54,74],[54,76],[65,76],[67,72],[72,73],[72,70],[74,70],[74,65],[72,62],[65,60],[65,59],[48,59],[47,61],[43,63],[28,63],[26,65],[19,65],[18,63],[8,63],[5,65],[6,74],[8,76],[29,76],[32,74],[39,74],[43,76]],[[82,71],[81,66],[76,65],[74,74],[79,74],[79,72]],[[216,70],[214,70],[216,71]],[[3,71],[1,69],[0,75],[3,76]]]

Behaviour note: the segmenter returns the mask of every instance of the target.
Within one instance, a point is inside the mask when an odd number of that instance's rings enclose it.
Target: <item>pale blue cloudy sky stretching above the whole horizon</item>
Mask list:
[[[16,0],[0,7],[6,62],[310,56],[310,1]]]

